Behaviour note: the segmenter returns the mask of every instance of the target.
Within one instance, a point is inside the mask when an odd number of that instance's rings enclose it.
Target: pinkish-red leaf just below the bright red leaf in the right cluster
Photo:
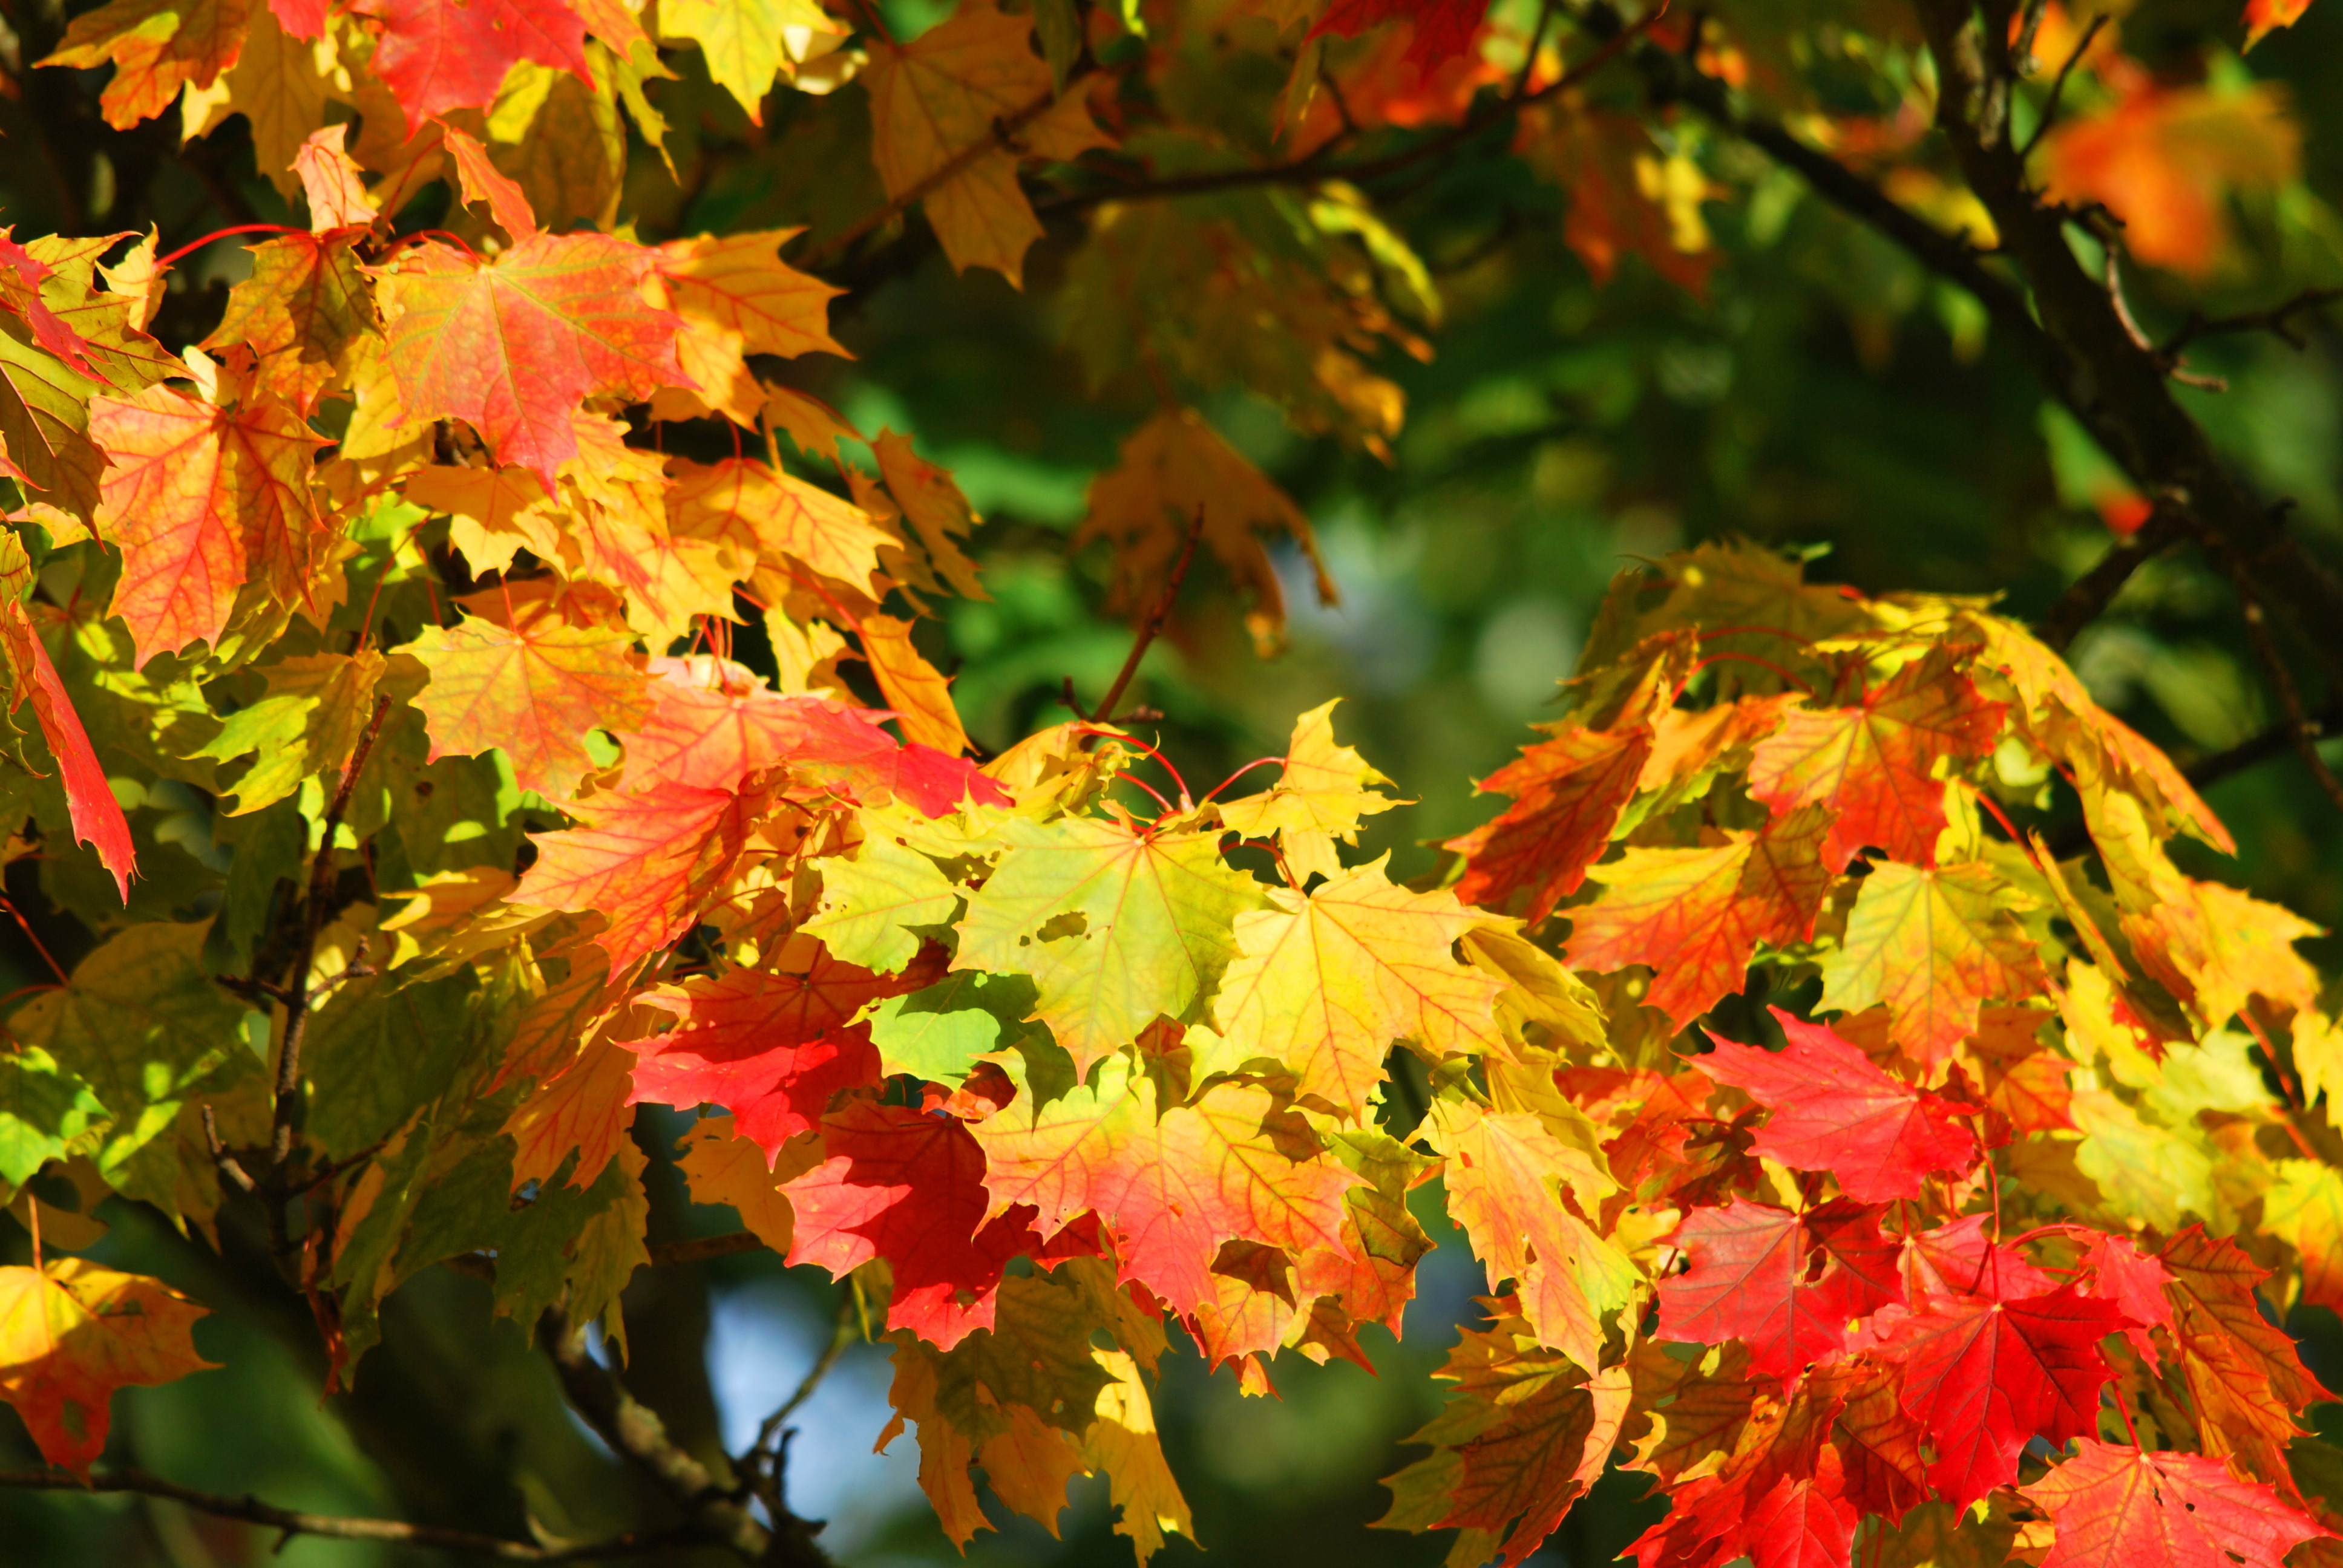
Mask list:
[[[1659,1282],[1661,1338],[1739,1338],[1762,1373],[1788,1378],[1842,1350],[1846,1322],[1879,1305],[1877,1289],[1837,1259],[1809,1282],[1816,1235],[1788,1209],[1741,1198],[1692,1209],[1675,1245],[1692,1266]]]

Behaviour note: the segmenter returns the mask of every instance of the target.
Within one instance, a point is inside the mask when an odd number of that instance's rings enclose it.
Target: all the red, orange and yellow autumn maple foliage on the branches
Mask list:
[[[1209,546],[1272,647],[1265,534],[1307,551],[1307,520],[1188,398],[1239,382],[1385,450],[1368,356],[1420,352],[1436,295],[1354,190],[1246,183],[1239,136],[1129,113],[1101,52],[1179,101],[1235,35],[1305,35],[1305,162],[1471,134],[1518,82],[1598,277],[1708,265],[1699,166],[1560,91],[1544,21],[1387,12],[1148,40],[970,2],[897,45],[675,0],[656,38],[752,117],[778,77],[858,77],[883,202],[827,255],[918,204],[1015,281],[1019,166],[1101,148],[1211,197],[1092,202],[1075,338],[1164,396],[1078,544],[1113,546],[1143,640]],[[956,1542],[977,1472],[1045,1523],[1104,1472],[1141,1559],[1193,1535],[1169,1329],[1249,1392],[1284,1350],[1364,1364],[1439,1177],[1497,1294],[1387,1523],[1457,1530],[1455,1563],[1521,1563],[1621,1453],[1671,1500],[1645,1568],[2334,1552],[2296,1451],[2327,1390],[2266,1317],[2343,1308],[2313,928],[2181,870],[2172,839],[2224,825],[2013,621],[1673,555],[1617,584],[1549,736],[1483,780],[1511,804],[1418,884],[1345,855],[1396,802],[1331,705],[1244,795],[1190,795],[1113,722],[1120,682],[979,764],[921,649],[984,593],[975,511],[771,370],[841,352],[839,288],[787,230],[612,223],[621,110],[665,141],[642,16],[112,0],[52,59],[110,61],[117,124],[246,113],[307,213],[178,352],[157,237],[0,241],[0,649],[33,703],[0,806],[101,938],[0,1055],[0,1181],[49,1242],[0,1270],[0,1397],[52,1463],[89,1477],[112,1390],[201,1364],[199,1308],[54,1256],[96,1195],[194,1228],[258,1205],[337,1378],[450,1261],[623,1355],[658,1104],[708,1111],[696,1200],[872,1303]],[[2125,159],[2214,110],[2095,75],[2043,157],[2120,206]],[[2214,108],[2291,162],[2275,105]],[[2186,195],[2125,211],[2137,255],[2207,265]],[[445,227],[410,227],[433,199]],[[2057,799],[2081,858],[2017,825]]]

